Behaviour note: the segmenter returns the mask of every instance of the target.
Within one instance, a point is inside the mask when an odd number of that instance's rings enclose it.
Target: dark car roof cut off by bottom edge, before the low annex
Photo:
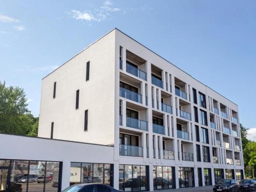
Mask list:
[[[122,192],[122,190],[117,190],[109,185],[104,184],[93,184],[93,183],[80,183],[72,185],[62,192]]]

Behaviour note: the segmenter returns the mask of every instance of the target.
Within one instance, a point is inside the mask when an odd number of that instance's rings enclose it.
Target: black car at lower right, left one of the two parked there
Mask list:
[[[214,192],[217,191],[238,191],[239,183],[236,179],[221,179],[216,185],[214,185]]]

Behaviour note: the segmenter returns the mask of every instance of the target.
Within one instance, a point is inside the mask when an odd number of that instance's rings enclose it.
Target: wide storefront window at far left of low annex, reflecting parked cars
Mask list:
[[[52,161],[0,160],[0,191],[58,192],[61,166]]]

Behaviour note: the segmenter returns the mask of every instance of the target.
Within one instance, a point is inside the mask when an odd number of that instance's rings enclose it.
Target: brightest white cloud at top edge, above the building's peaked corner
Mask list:
[[[121,11],[120,8],[113,8],[111,7],[112,3],[110,1],[105,1],[103,6],[100,6],[98,9],[94,10],[86,10],[86,11],[78,11],[78,10],[71,10],[72,17],[76,20],[87,20],[88,22],[96,21],[101,22],[105,20],[108,16],[111,15],[112,12]]]

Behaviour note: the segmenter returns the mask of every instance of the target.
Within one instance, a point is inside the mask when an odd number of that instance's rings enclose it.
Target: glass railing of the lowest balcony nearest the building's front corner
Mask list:
[[[119,155],[143,157],[143,147],[133,145],[119,145]]]

